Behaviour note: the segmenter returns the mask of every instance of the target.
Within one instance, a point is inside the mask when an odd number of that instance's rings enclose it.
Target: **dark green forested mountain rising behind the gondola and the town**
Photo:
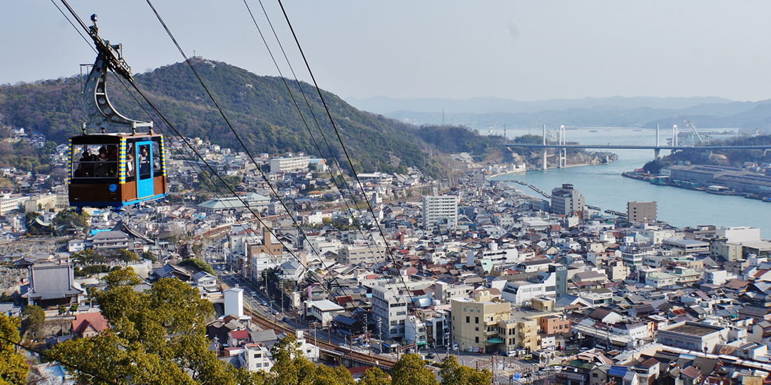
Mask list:
[[[244,69],[206,59],[194,59],[193,62],[217,104],[252,154],[302,151],[326,159],[335,156],[341,165],[347,166],[327,112],[311,85],[301,83],[312,115],[298,84],[288,81],[304,121],[281,78],[254,75]],[[198,136],[243,151],[187,64],[167,65],[135,75],[135,80],[183,136]],[[0,126],[24,127],[28,131],[43,132],[53,141],[66,142],[69,136],[79,133],[86,118],[82,111],[80,87],[78,77],[2,85]],[[391,172],[400,165],[426,164],[426,154],[417,144],[419,139],[413,135],[415,127],[382,115],[361,112],[332,93],[322,93],[357,171],[372,171],[377,165],[379,170]],[[117,79],[108,80],[108,95],[123,115],[137,120],[148,119],[146,112]],[[145,109],[151,111],[147,106]],[[157,116],[153,116],[153,120],[161,131],[171,135],[171,130]],[[316,122],[332,147],[332,154]],[[316,149],[307,127],[310,127],[321,151]]]

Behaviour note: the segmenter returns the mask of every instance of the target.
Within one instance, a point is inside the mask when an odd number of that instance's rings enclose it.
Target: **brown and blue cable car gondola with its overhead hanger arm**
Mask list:
[[[99,38],[96,15],[89,35],[98,55],[82,89],[89,122],[82,135],[69,139],[69,204],[82,207],[121,207],[166,196],[166,156],[163,136],[153,132],[153,122],[128,119],[116,112],[106,92],[106,75],[112,70],[132,81],[123,60],[122,46]],[[148,132],[137,133],[146,128]],[[89,129],[100,133],[88,134]],[[107,130],[129,130],[112,133]]]

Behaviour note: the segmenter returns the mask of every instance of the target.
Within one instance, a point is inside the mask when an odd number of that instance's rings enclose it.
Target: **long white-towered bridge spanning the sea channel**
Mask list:
[[[641,132],[638,136],[634,136],[624,142],[618,144],[581,144],[577,142],[568,143],[565,138],[565,126],[560,126],[560,131],[557,133],[557,142],[547,141],[547,130],[544,125],[544,135],[542,143],[504,143],[503,146],[507,147],[524,147],[529,149],[544,149],[543,168],[547,169],[547,158],[557,155],[557,168],[567,166],[567,149],[652,149],[654,151],[654,159],[658,159],[659,153],[662,149],[670,150],[672,152],[685,149],[697,149],[710,151],[715,149],[759,149],[766,151],[771,149],[771,144],[768,145],[732,145],[721,146],[712,145],[709,142],[705,142],[699,132],[696,132],[694,127],[691,127],[691,135],[685,144],[680,144],[678,126],[672,127],[672,137],[664,139],[662,132],[658,128],[648,129],[645,132]],[[668,132],[667,132],[668,134]],[[668,136],[668,135],[667,135]],[[662,139],[666,144],[662,143]],[[698,142],[697,142],[698,139]],[[547,154],[547,149],[557,149],[558,154]]]

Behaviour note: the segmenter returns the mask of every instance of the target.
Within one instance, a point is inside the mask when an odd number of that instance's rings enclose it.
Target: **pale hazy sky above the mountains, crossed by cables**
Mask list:
[[[61,2],[55,0],[59,6]],[[140,0],[70,0],[133,72],[180,62]],[[274,43],[260,3],[247,0]],[[301,79],[277,0],[263,0]],[[242,0],[154,0],[187,55],[278,75]],[[768,1],[284,0],[322,89],[342,97],[771,99]],[[63,8],[63,7],[62,7]],[[51,1],[0,5],[0,84],[79,73],[94,53]]]

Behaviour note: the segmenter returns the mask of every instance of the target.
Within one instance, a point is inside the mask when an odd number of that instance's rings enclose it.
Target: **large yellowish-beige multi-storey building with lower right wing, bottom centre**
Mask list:
[[[535,320],[512,320],[511,304],[482,292],[471,298],[452,300],[453,343],[458,349],[476,353],[537,350]]]

